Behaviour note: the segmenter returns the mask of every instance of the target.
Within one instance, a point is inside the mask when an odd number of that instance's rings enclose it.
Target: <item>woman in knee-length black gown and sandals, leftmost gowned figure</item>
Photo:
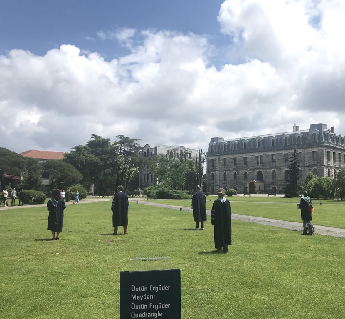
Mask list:
[[[63,210],[66,208],[65,200],[61,197],[60,189],[53,189],[51,198],[48,200],[47,209],[49,210],[48,216],[48,230],[51,231],[52,240],[58,240],[62,232],[63,225]]]

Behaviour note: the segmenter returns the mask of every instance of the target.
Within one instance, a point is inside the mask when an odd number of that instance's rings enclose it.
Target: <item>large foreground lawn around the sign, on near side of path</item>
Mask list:
[[[181,318],[344,318],[344,238],[233,221],[215,255],[210,222],[192,231],[189,212],[130,204],[129,234],[113,236],[110,205],[68,205],[60,241],[46,208],[0,211],[0,318],[119,318],[119,272],[165,256],[181,269]]]

